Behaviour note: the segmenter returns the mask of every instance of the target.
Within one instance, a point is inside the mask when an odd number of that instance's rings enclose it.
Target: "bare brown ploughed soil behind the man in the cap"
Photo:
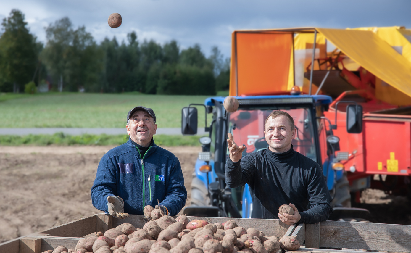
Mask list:
[[[0,147],[0,243],[102,213],[90,189],[101,157],[113,147]],[[190,203],[201,147],[165,147],[182,167]]]

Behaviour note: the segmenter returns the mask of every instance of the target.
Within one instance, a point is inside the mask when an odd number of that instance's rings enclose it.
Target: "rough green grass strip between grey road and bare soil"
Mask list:
[[[164,147],[174,146],[200,146],[199,138],[201,136],[170,136],[170,135],[155,135],[154,141],[156,145]],[[72,145],[121,145],[127,142],[128,135],[92,135],[83,134],[80,136],[70,136],[63,133],[55,133],[53,135],[4,135],[0,136],[1,146],[72,146]]]

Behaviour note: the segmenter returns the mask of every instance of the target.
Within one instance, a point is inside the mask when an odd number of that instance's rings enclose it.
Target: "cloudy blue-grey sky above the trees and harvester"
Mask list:
[[[0,0],[0,18],[12,9],[23,11],[30,31],[43,42],[44,27],[67,16],[74,27],[85,25],[98,43],[113,36],[127,41],[127,33],[136,31],[139,41],[175,39],[181,48],[198,43],[206,55],[218,46],[226,57],[236,29],[411,28],[411,0]],[[114,12],[122,16],[119,28],[107,24]]]

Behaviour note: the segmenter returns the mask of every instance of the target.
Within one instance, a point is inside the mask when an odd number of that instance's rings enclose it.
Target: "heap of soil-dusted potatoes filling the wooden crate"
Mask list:
[[[182,214],[166,216],[160,209],[147,208],[150,221],[143,229],[124,223],[97,237],[79,240],[76,248],[64,246],[43,253],[276,253],[279,248],[297,250],[300,243],[293,236],[266,237],[255,228],[239,227],[235,221],[209,224],[189,221]],[[146,211],[146,210],[145,210]]]

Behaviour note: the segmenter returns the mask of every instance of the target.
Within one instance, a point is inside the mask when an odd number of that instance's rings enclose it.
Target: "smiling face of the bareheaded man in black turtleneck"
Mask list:
[[[291,140],[296,137],[297,129],[291,129],[291,122],[285,115],[268,118],[264,128],[269,150],[279,153],[290,150]]]

